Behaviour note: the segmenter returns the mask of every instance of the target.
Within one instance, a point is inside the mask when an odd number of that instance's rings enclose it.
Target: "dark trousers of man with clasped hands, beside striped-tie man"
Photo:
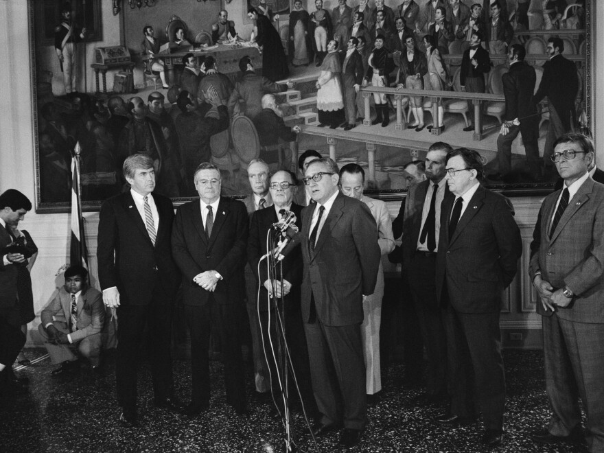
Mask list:
[[[208,347],[212,329],[216,329],[222,348],[224,386],[227,402],[236,409],[246,406],[243,359],[239,342],[235,304],[217,303],[213,298],[205,305],[185,305],[187,324],[191,331],[191,402],[208,404],[210,369]]]

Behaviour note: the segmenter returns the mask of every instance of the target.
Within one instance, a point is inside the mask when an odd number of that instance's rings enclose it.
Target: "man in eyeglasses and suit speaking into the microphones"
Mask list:
[[[321,423],[317,436],[343,426],[340,444],[360,441],[367,424],[360,324],[363,294],[372,294],[380,264],[377,227],[367,205],[338,191],[338,165],[312,161],[304,184],[315,201],[302,211],[302,318],[312,388]]]

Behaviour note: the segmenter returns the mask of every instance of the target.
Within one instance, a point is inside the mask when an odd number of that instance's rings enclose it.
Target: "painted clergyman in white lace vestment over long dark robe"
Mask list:
[[[327,55],[321,64],[321,74],[316,81],[316,108],[318,126],[335,129],[345,122],[344,98],[342,97],[342,63],[338,55],[338,42],[327,43]]]

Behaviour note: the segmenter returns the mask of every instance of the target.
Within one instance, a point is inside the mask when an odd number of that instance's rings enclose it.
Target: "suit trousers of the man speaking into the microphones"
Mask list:
[[[345,428],[362,430],[367,424],[367,394],[360,325],[329,326],[317,317],[304,328],[321,423],[343,421]]]

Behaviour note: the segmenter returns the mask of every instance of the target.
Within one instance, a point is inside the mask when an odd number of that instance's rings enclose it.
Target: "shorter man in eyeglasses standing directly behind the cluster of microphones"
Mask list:
[[[310,385],[310,367],[308,364],[308,349],[306,346],[306,336],[302,324],[302,313],[300,309],[300,291],[302,285],[302,251],[299,246],[292,249],[277,266],[276,274],[272,277],[268,275],[267,262],[261,257],[268,251],[266,247],[266,235],[272,230],[273,224],[286,218],[289,212],[296,216],[295,224],[298,229],[302,227],[302,207],[293,202],[296,193],[297,181],[291,172],[281,170],[270,178],[270,196],[274,205],[266,209],[255,211],[251,219],[250,237],[248,241],[248,262],[253,270],[256,285],[254,294],[260,290],[259,297],[255,297],[254,313],[255,318],[259,318],[259,326],[262,331],[262,342],[264,351],[261,351],[262,360],[265,367],[270,369],[270,385],[272,386],[275,402],[279,405],[279,410],[283,410],[281,403],[281,391],[279,390],[279,377],[277,376],[277,367],[273,358],[273,348],[277,356],[277,338],[278,326],[276,305],[277,301],[283,306],[283,323],[285,324],[286,339],[290,348],[290,357],[292,367],[296,374],[296,382],[300,388],[302,402],[306,413],[316,415],[316,404],[312,395],[312,386]],[[272,246],[270,246],[272,250]],[[258,268],[258,263],[260,267]],[[283,272],[281,273],[281,266]],[[283,287],[281,288],[281,278]],[[250,314],[251,315],[251,314]],[[270,338],[269,338],[270,332]],[[265,356],[266,353],[266,356]],[[279,369],[279,373],[283,373]],[[268,373],[267,373],[268,374]],[[268,377],[268,375],[267,375]],[[283,375],[281,375],[283,382]],[[298,402],[299,397],[296,391],[296,385],[292,384],[293,377],[288,378],[290,383],[289,395],[290,403]]]

